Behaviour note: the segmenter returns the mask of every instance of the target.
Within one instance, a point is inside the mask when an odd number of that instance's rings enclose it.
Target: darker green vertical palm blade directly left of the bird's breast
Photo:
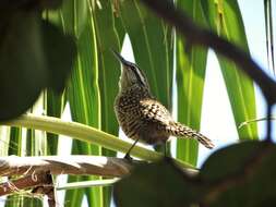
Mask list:
[[[115,117],[113,101],[118,93],[120,63],[112,56],[110,48],[120,50],[124,28],[120,19],[115,16],[112,1],[98,1],[93,11],[93,19],[97,37],[101,130],[118,135],[119,126]],[[116,153],[104,148],[103,155],[116,156]],[[111,187],[105,187],[104,194],[104,206],[108,207],[111,200]]]

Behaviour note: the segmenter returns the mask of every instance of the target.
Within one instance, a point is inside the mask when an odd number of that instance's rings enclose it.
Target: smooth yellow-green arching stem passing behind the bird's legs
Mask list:
[[[119,150],[122,153],[127,153],[132,145],[131,143],[122,141],[111,134],[105,133],[95,127],[91,127],[88,125],[76,122],[62,121],[61,119],[46,115],[34,115],[28,113],[16,118],[16,120],[2,122],[0,124],[23,126],[27,129],[47,131],[55,134],[63,134],[67,136],[74,137],[79,141],[97,144],[105,148],[111,150]],[[131,150],[131,155],[149,161],[156,161],[163,157],[163,155],[159,153],[140,146],[135,146]],[[180,160],[176,161],[179,166],[183,168],[194,169],[194,167],[187,162]]]

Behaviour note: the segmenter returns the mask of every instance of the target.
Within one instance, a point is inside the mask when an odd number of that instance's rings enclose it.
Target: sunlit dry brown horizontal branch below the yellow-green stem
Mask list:
[[[99,156],[41,156],[0,158],[0,175],[28,175],[40,171],[51,174],[122,176],[130,172],[125,159]]]

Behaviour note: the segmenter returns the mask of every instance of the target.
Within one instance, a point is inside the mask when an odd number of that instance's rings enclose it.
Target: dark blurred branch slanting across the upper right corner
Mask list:
[[[142,0],[142,2],[157,15],[172,24],[190,44],[211,47],[235,61],[240,66],[239,69],[257,83],[268,104],[276,102],[276,96],[272,93],[276,92],[276,83],[262,71],[248,53],[213,32],[196,26],[183,11],[176,9],[168,0]]]

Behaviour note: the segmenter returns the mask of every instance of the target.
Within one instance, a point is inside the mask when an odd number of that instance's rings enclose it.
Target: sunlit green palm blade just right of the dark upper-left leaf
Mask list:
[[[70,13],[71,12],[71,13]],[[83,15],[85,13],[86,15]],[[98,60],[94,21],[88,1],[71,1],[63,7],[62,20],[65,31],[73,29],[77,38],[77,58],[68,88],[68,98],[72,119],[80,123],[100,127],[100,99],[98,88]],[[73,149],[79,154],[101,155],[101,148],[80,141],[73,142]],[[79,180],[93,180],[94,176],[82,176]],[[71,181],[71,178],[69,179]],[[84,191],[91,206],[103,206],[103,188]],[[71,198],[75,192],[67,192]],[[82,196],[76,196],[79,203]],[[75,199],[76,199],[75,198]],[[75,202],[74,202],[75,203]],[[74,206],[74,203],[70,204]]]

